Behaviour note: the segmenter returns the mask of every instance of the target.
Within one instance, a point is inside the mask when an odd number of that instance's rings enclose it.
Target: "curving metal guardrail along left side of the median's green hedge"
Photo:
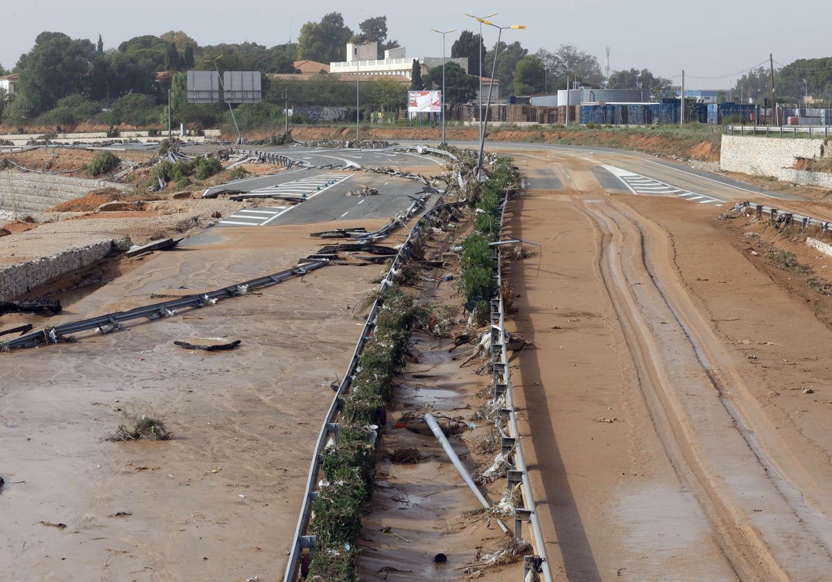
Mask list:
[[[433,217],[433,215],[438,215],[443,210],[458,207],[465,204],[466,203],[462,201],[453,202],[450,204],[436,205],[432,209],[428,210],[428,212],[426,212],[423,215],[423,218],[429,219]],[[404,266],[404,264],[407,263],[410,259],[410,244],[413,242],[414,239],[418,238],[418,236],[422,233],[422,229],[422,220],[419,220],[418,223],[414,225],[414,228],[410,230],[408,239],[405,241],[405,243],[402,245],[402,248],[399,249],[399,253],[396,254],[395,258],[393,259],[393,263],[391,264],[389,271],[387,272],[381,284],[379,285],[379,291],[384,292],[394,284],[394,272],[401,269]],[[338,442],[339,412],[341,408],[344,406],[344,397],[346,396],[347,392],[349,392],[349,386],[352,382],[355,367],[357,367],[359,364],[361,353],[364,350],[364,345],[367,343],[367,340],[373,333],[373,329],[375,328],[376,323],[376,317],[378,316],[379,309],[381,307],[381,300],[376,299],[373,303],[373,307],[370,308],[369,314],[367,315],[366,321],[364,323],[364,329],[362,329],[361,331],[358,343],[355,344],[355,348],[353,350],[353,356],[349,360],[346,372],[344,372],[344,380],[342,380],[339,384],[338,390],[335,392],[335,397],[333,398],[332,404],[329,405],[329,412],[327,412],[327,415],[324,418],[324,424],[319,432],[318,441],[316,441],[315,443],[309,476],[307,476],[306,478],[306,490],[304,493],[304,501],[300,508],[298,524],[295,527],[295,540],[292,543],[292,549],[289,553],[289,560],[286,564],[286,570],[283,579],[285,580],[285,582],[295,582],[295,580],[297,580],[298,565],[300,564],[300,555],[303,553],[303,550],[315,550],[314,535],[305,535],[305,532],[306,530],[308,530],[310,524],[310,516],[312,514],[312,502],[318,496],[318,493],[315,490],[317,489],[318,484],[318,473],[320,464],[321,462],[323,462],[324,448],[327,446],[327,443],[330,441],[330,439],[334,440],[336,444]]]

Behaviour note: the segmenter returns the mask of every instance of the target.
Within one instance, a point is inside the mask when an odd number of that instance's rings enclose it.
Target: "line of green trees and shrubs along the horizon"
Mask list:
[[[309,80],[270,78],[270,73],[293,73],[295,62],[343,62],[347,42],[376,42],[379,58],[399,43],[389,39],[387,17],[371,17],[354,32],[339,12],[319,22],[306,22],[298,41],[265,47],[253,42],[201,47],[185,32],[145,35],[104,50],[97,42],[72,39],[62,32],[42,32],[32,49],[21,55],[12,72],[20,75],[17,96],[0,90],[0,118],[7,125],[72,126],[81,121],[109,125],[164,126],[170,91],[172,121],[191,126],[214,126],[228,116],[222,104],[188,104],[188,70],[260,71],[264,102],[242,104],[235,113],[245,123],[277,122],[285,116],[285,96],[295,106],[349,106],[354,86],[337,75],[320,73]],[[497,67],[493,67],[498,55]],[[562,89],[567,83],[641,89],[653,97],[671,96],[671,81],[646,69],[612,72],[605,78],[596,57],[572,45],[530,53],[520,42],[485,47],[476,33],[463,31],[451,47],[451,57],[468,58],[468,74],[454,62],[445,66],[445,101],[460,103],[476,97],[478,75],[492,75],[503,94],[526,95]],[[0,67],[0,74],[7,73]],[[421,74],[414,63],[411,89],[442,86],[442,67]],[[778,101],[800,102],[812,96],[832,101],[832,58],[801,59],[775,72]],[[404,88],[389,79],[360,83],[360,101],[375,110],[396,111],[405,106]],[[729,91],[734,101],[763,103],[770,96],[770,74],[760,67],[743,75]]]

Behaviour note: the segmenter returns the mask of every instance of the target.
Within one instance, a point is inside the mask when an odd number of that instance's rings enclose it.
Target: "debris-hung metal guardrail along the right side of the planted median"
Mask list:
[[[500,213],[500,224],[503,224],[505,218],[506,205],[508,196],[503,199],[503,210]],[[503,289],[503,264],[502,264],[502,250],[498,248],[498,266],[497,266],[497,289]],[[514,457],[514,471],[508,471],[507,481],[508,488],[511,489],[518,482],[521,484],[523,507],[514,510],[514,536],[520,538],[522,521],[527,520],[532,525],[532,534],[534,535],[533,547],[537,554],[535,556],[526,556],[524,561],[524,580],[525,573],[531,568],[542,569],[543,580],[552,582],[552,571],[549,569],[546,545],[543,540],[543,532],[540,528],[540,520],[537,516],[536,504],[534,495],[532,493],[532,484],[528,478],[528,469],[526,466],[526,459],[523,456],[522,444],[520,442],[520,429],[518,427],[518,419],[516,409],[514,407],[513,387],[511,379],[511,370],[508,367],[508,347],[503,341],[508,338],[505,324],[505,308],[503,305],[503,294],[498,291],[498,297],[491,300],[491,329],[492,329],[492,353],[493,356],[499,355],[498,361],[493,362],[493,399],[497,401],[499,397],[504,395],[505,408],[501,412],[508,415],[508,435],[500,422],[504,418],[504,414],[497,416],[497,428],[503,436],[503,451],[513,451]],[[498,340],[495,343],[495,339]],[[494,353],[499,348],[499,354]],[[502,380],[502,382],[501,382]]]

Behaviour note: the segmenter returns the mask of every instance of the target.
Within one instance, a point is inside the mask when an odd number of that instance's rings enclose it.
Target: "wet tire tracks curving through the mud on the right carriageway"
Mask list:
[[[582,210],[601,239],[598,269],[656,435],[735,579],[813,580],[829,571],[819,521],[731,404],[730,386],[709,363],[708,330],[686,321],[673,281],[659,277],[656,265],[670,261],[661,256],[664,235],[651,236],[612,200]]]

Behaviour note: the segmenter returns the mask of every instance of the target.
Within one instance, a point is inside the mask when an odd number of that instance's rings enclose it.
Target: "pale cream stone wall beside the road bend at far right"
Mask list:
[[[750,175],[770,176],[778,180],[808,184],[810,179],[794,170],[797,158],[823,157],[824,140],[780,139],[776,137],[722,136],[720,169]],[[816,185],[816,184],[812,184]]]

